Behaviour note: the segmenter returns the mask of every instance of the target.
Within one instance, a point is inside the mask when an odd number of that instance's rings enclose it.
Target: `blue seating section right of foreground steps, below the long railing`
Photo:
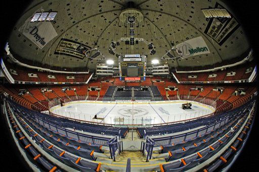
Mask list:
[[[251,104],[248,104],[251,108]],[[162,145],[161,151],[168,152],[169,156],[166,161],[172,161],[170,163],[161,164],[161,171],[186,171],[191,169],[200,163],[206,161],[214,154],[218,153],[219,150],[226,149],[226,144],[235,137],[234,142],[231,146],[227,147],[226,151],[222,151],[222,155],[218,156],[212,163],[206,165],[203,171],[220,171],[219,166],[226,167],[226,162],[233,159],[233,155],[237,153],[237,150],[241,148],[242,142],[249,132],[251,125],[251,118],[246,122],[250,109],[246,107],[236,111],[238,115],[232,114],[232,118],[228,120],[223,126],[214,128],[202,136],[194,137],[191,140],[172,143],[168,145]],[[245,125],[245,127],[241,127]],[[238,134],[238,131],[242,131]],[[220,139],[219,139],[220,138]],[[232,158],[230,158],[232,156]],[[227,163],[229,164],[229,162]],[[222,169],[223,169],[222,168]]]

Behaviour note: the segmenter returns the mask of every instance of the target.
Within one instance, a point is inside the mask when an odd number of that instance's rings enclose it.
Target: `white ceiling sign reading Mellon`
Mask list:
[[[210,53],[207,44],[201,36],[177,44],[176,48],[178,53],[179,51],[182,52],[183,58]]]

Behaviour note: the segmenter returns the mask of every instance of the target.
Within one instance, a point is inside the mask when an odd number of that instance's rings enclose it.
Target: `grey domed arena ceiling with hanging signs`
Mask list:
[[[208,8],[226,9],[231,18],[206,19]],[[30,22],[38,12],[57,15]],[[118,54],[147,55],[147,66],[154,59],[170,67],[213,65],[250,48],[235,14],[213,0],[33,1],[8,42],[17,60],[85,69],[106,60],[117,66]]]

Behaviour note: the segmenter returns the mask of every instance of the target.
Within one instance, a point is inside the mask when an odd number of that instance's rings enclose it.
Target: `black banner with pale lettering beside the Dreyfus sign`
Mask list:
[[[92,49],[90,46],[84,45],[70,39],[62,38],[54,52],[54,54],[62,54],[73,56],[74,58],[85,58],[85,52]]]

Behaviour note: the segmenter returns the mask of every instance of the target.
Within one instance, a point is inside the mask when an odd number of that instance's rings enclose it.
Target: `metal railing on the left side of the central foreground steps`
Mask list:
[[[114,138],[111,138],[110,140],[108,140],[107,144],[109,145],[111,159],[113,161],[116,161],[115,160],[116,151],[118,150],[119,155],[121,152],[123,152],[122,141],[119,140],[119,136],[115,136]]]

